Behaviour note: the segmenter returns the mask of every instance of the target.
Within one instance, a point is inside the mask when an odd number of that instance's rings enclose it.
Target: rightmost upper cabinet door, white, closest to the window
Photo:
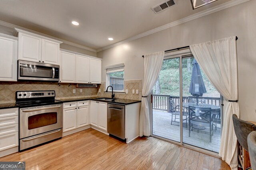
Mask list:
[[[101,82],[101,60],[90,58],[90,83]]]

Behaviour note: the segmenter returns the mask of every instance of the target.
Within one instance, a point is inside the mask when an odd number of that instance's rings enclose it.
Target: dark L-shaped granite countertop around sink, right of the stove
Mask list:
[[[100,102],[107,102],[107,103],[112,103],[112,104],[134,104],[141,102],[141,100],[130,100],[130,99],[116,99],[116,100],[102,100],[98,98],[104,98],[104,97],[99,97],[99,96],[92,96],[92,97],[86,97],[86,98],[69,98],[69,99],[58,99],[62,102],[74,102],[74,101],[82,101],[82,100],[94,100],[94,101],[100,101]]]

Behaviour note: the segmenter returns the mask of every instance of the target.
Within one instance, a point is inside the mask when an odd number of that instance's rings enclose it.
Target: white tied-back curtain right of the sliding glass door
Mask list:
[[[224,97],[223,129],[219,156],[237,169],[236,135],[232,114],[240,117],[237,85],[236,37],[190,45],[190,50],[213,86]]]

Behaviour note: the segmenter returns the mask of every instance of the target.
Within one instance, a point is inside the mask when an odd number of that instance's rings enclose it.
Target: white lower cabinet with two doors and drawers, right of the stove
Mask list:
[[[67,102],[63,108],[63,132],[90,124],[89,101]]]

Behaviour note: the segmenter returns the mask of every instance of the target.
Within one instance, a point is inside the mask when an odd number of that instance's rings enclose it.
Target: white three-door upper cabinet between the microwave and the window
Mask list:
[[[96,57],[61,49],[60,67],[60,82],[101,83],[101,59]]]

